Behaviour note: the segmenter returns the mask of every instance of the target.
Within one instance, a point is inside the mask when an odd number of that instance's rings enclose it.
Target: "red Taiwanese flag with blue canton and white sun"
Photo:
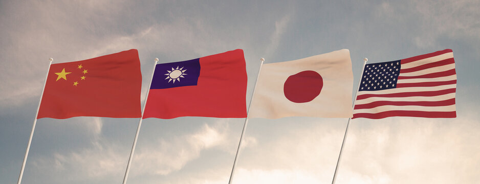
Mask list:
[[[245,118],[247,71],[243,50],[155,67],[143,118]]]

